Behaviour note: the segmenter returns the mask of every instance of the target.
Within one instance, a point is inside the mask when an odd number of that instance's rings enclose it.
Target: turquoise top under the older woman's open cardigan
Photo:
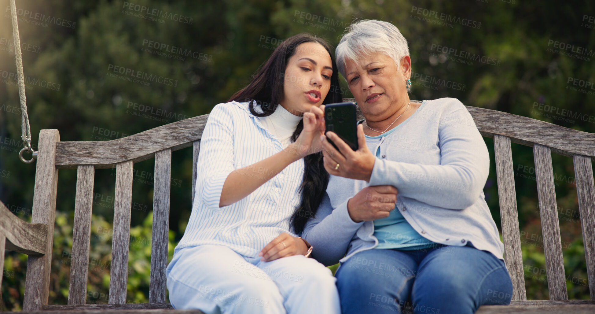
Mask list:
[[[419,106],[421,108],[425,104],[425,101]],[[418,109],[419,111],[419,109]],[[418,111],[415,111],[417,113]],[[415,113],[411,117],[415,116]],[[408,117],[406,120],[411,119]],[[405,121],[406,121],[405,120]],[[380,143],[384,136],[389,135],[402,126],[404,122],[390,129],[389,131],[377,135],[368,136],[366,135],[367,142]],[[380,145],[375,153],[376,157],[380,156]],[[396,206],[395,206],[396,208]],[[392,210],[388,217],[374,220],[374,237],[378,239],[378,245],[374,248],[396,248],[399,250],[419,250],[421,248],[428,248],[435,245],[432,241],[424,238],[415,229],[409,225],[405,217],[399,212],[399,210]]]

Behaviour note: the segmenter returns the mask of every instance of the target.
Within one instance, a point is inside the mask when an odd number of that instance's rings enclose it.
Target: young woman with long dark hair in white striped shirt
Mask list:
[[[329,269],[296,237],[328,183],[320,105],[340,102],[328,44],[299,34],[206,122],[192,214],[167,268],[176,309],[339,313]]]

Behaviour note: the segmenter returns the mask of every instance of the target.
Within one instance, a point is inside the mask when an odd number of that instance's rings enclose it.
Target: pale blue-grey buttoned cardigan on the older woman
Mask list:
[[[381,156],[369,183],[331,175],[315,219],[302,232],[314,247],[312,256],[328,266],[374,248],[374,222],[353,222],[347,201],[368,185],[393,185],[399,190],[397,209],[423,237],[454,246],[471,242],[503,259],[504,245],[483,193],[490,156],[461,101],[424,101],[397,128],[366,139],[372,154],[380,149]]]

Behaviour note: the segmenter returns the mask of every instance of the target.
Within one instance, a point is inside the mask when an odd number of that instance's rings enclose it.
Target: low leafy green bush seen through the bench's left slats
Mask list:
[[[70,215],[56,213],[49,304],[66,304],[68,302],[73,218],[72,213]],[[149,301],[152,221],[153,214],[149,212],[141,225],[130,228],[127,303],[148,303]],[[87,304],[108,303],[112,235],[112,223],[107,222],[101,216],[92,215]],[[170,231],[168,261],[173,257],[176,247],[173,240],[174,232]],[[26,257],[24,254],[10,252],[5,259],[2,300],[4,308],[7,310],[21,310],[27,265]]]

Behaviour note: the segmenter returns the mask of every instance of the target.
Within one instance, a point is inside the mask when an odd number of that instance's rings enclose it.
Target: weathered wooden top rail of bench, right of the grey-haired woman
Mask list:
[[[343,101],[355,101],[346,98]],[[595,134],[564,128],[553,123],[512,113],[465,106],[481,135],[493,137],[494,134],[511,138],[513,143],[533,147],[534,143],[551,147],[552,151],[565,156],[580,154],[595,157]],[[358,119],[364,115],[358,108]]]

